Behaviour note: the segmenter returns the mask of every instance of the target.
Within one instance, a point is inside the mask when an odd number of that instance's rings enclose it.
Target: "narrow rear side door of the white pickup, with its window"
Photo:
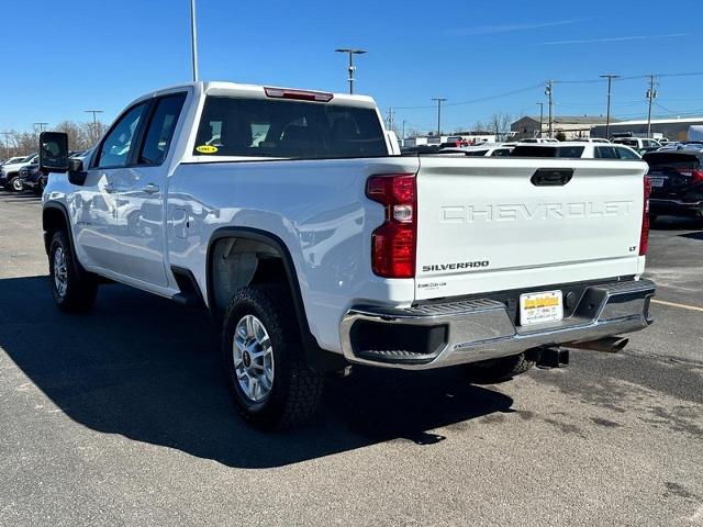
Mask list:
[[[186,97],[179,92],[152,101],[129,170],[115,181],[121,273],[159,287],[168,285],[164,258],[167,158]]]

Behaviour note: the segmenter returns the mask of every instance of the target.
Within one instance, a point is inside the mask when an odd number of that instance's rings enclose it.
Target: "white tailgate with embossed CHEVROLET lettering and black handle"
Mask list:
[[[647,165],[421,158],[416,299],[635,274]]]

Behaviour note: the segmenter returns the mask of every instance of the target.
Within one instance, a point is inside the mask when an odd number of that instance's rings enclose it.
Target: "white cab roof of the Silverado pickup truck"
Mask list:
[[[161,88],[159,90],[155,90],[150,93],[146,93],[143,97],[140,97],[138,99],[136,99],[134,102],[142,99],[149,99],[152,97],[158,97],[164,93],[172,92],[175,90],[178,90],[179,88],[181,89],[196,88],[198,92],[204,93],[205,96],[247,97],[247,98],[254,98],[254,99],[268,98],[265,89],[275,88],[279,90],[294,90],[294,91],[331,94],[332,99],[328,102],[326,102],[326,104],[344,104],[346,106],[376,108],[376,102],[369,96],[350,96],[348,93],[334,93],[331,91],[310,90],[310,89],[280,87],[280,86],[248,85],[248,83],[241,83],[241,82],[225,82],[225,81],[219,81],[219,80],[183,82],[180,85],[169,86],[166,88]]]

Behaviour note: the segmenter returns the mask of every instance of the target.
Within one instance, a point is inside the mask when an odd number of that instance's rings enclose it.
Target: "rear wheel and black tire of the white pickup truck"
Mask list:
[[[317,410],[322,374],[308,367],[284,285],[237,290],[222,329],[222,359],[232,402],[267,430],[302,425]]]

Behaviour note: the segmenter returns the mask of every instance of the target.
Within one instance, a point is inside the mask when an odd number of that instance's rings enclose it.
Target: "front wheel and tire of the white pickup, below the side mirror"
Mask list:
[[[59,310],[67,313],[90,311],[98,294],[96,278],[76,268],[65,231],[54,233],[48,250],[52,294]]]

